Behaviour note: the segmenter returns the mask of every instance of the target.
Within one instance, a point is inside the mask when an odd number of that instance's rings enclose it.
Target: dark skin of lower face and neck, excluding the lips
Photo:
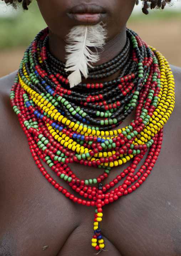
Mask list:
[[[50,2],[48,0],[38,0],[37,3],[43,19],[50,29],[50,51],[62,61],[65,61],[64,40],[73,26],[95,25],[101,21],[106,24],[108,31],[107,44],[100,58],[100,63],[103,63],[116,56],[124,47],[126,42],[125,25],[131,15],[135,1],[54,0]],[[75,7],[82,3],[91,9],[97,10],[100,8],[101,14],[98,22],[80,22],[73,17],[72,12],[74,12]],[[121,13],[120,10],[122,10]],[[110,47],[112,48],[111,52]]]

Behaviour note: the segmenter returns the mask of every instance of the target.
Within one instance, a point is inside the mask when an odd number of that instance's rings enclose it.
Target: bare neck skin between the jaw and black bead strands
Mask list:
[[[126,43],[126,25],[119,32],[117,36],[115,36],[112,40],[108,41],[104,45],[104,50],[100,50],[100,60],[95,63],[95,65],[100,65],[101,63],[105,63],[115,56],[124,48]],[[60,61],[66,62],[66,51],[65,51],[66,42],[59,37],[57,37],[51,30],[49,31],[49,48],[50,52]],[[112,76],[106,77],[101,81],[96,81],[98,83],[109,81],[118,77],[119,72],[113,74]],[[92,83],[92,80],[83,80],[82,82]]]

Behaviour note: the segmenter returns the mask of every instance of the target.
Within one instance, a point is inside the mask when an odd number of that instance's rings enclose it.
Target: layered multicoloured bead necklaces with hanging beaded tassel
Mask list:
[[[41,173],[67,198],[96,207],[92,238],[95,250],[104,248],[100,230],[102,206],[131,193],[148,177],[159,156],[163,126],[175,103],[169,63],[135,32],[127,29],[126,33],[126,45],[118,56],[89,68],[90,79],[109,77],[119,70],[120,75],[108,82],[80,83],[70,90],[64,63],[48,51],[46,28],[25,51],[11,89],[12,108]],[[135,107],[136,117],[130,125],[112,131]],[[135,173],[148,148],[148,157]],[[40,159],[84,199],[58,184]],[[112,167],[130,159],[133,162],[129,167],[103,185]],[[103,168],[103,174],[94,179],[78,179],[68,167],[73,162]],[[97,187],[91,185],[97,183]],[[119,186],[108,192],[117,183]]]

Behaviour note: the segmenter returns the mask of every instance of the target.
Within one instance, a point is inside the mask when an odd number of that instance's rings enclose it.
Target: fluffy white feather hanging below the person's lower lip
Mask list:
[[[73,71],[68,80],[70,87],[74,87],[81,82],[81,73],[85,78],[88,77],[88,66],[99,60],[97,48],[102,48],[105,44],[107,31],[103,25],[94,26],[75,26],[67,36],[65,71]],[[90,50],[95,48],[95,52]]]

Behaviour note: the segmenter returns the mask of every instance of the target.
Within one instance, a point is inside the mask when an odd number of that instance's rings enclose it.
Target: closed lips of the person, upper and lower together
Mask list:
[[[93,25],[102,21],[106,11],[104,7],[97,4],[79,4],[69,9],[67,14],[78,24]]]

